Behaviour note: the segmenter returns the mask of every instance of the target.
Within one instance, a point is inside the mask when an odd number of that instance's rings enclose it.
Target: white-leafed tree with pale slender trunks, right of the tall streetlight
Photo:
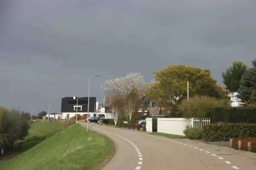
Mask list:
[[[130,73],[125,77],[120,77],[116,79],[108,79],[101,86],[102,94],[104,97],[111,97],[111,111],[113,117],[118,117],[121,111],[124,111],[125,116],[128,120],[131,120],[134,112],[140,105],[140,100],[144,95],[144,85],[143,76],[138,73]],[[119,96],[118,99],[115,98]],[[113,100],[118,100],[118,106]],[[122,100],[122,102],[120,102]],[[122,103],[122,106],[121,106]],[[117,119],[115,121],[117,123]]]

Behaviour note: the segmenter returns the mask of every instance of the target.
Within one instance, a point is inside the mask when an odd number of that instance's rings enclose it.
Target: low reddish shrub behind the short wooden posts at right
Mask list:
[[[248,142],[251,142],[251,151],[256,153],[256,138],[235,138],[233,139],[233,148],[238,149],[238,141],[241,140],[242,142],[242,150],[248,150]]]

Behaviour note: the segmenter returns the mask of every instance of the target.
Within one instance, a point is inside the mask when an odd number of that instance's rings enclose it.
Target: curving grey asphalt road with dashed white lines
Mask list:
[[[116,146],[115,155],[102,170],[256,170],[254,153],[137,130],[89,125]]]

